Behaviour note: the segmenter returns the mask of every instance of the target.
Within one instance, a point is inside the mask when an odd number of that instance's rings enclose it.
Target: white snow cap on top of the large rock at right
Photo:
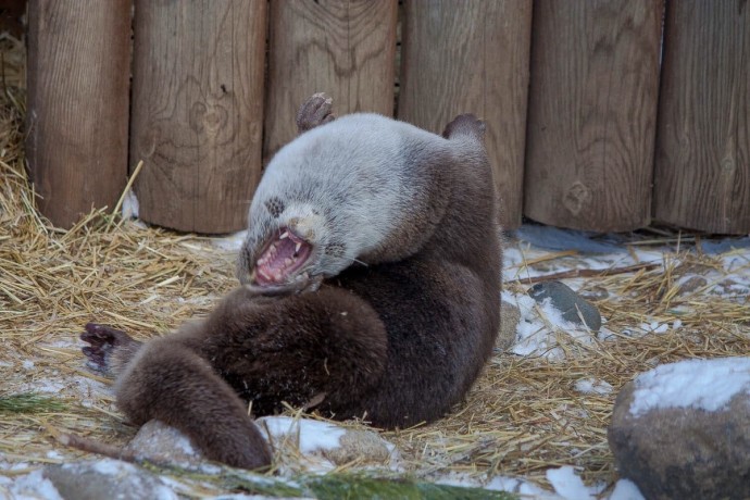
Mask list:
[[[630,414],[658,408],[726,407],[738,393],[750,395],[750,358],[687,360],[657,366],[635,380]]]

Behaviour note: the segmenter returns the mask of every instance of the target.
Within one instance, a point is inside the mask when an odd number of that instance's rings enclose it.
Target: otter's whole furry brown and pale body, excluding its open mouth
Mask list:
[[[461,115],[443,138],[383,116],[350,116],[334,121],[322,96],[303,105],[304,133],[279,152],[279,166],[272,162],[253,200],[239,259],[247,285],[207,320],[143,345],[87,325],[89,365],[117,378],[117,404],[134,423],[161,420],[210,459],[259,468],[271,453],[249,403],[265,415],[283,401],[314,401],[326,416],[405,427],[450,411],[476,379],[500,301],[484,125]],[[300,165],[322,176],[273,178]],[[354,177],[337,182],[342,175]],[[338,222],[339,209],[355,221]],[[268,235],[300,221],[316,252],[310,264],[277,287],[253,284]]]

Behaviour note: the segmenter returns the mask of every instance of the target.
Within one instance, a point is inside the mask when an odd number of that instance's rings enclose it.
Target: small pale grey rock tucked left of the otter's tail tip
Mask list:
[[[203,455],[190,438],[155,420],[143,424],[124,451],[154,463],[195,466],[203,462]]]

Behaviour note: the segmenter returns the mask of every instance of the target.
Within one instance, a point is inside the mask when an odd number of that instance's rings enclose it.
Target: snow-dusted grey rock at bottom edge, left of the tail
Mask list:
[[[48,465],[42,475],[64,499],[178,498],[159,477],[120,460],[102,459]]]

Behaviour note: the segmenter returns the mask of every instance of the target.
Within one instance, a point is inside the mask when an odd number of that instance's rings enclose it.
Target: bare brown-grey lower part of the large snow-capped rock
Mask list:
[[[750,395],[718,411],[654,408],[634,415],[623,387],[608,438],[623,477],[648,499],[750,498]]]

